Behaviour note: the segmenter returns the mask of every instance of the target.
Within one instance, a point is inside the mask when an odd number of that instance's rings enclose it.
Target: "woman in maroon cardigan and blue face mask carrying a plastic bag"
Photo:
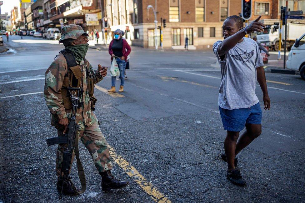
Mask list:
[[[131,48],[125,39],[122,38],[122,31],[117,29],[114,31],[114,39],[110,42],[108,48],[109,54],[112,60],[116,60],[118,63],[118,68],[120,70],[121,85],[119,92],[124,91],[124,81],[125,81],[125,68],[127,62],[127,56],[131,52]],[[111,89],[108,92],[115,92],[115,79],[116,77],[111,77]]]

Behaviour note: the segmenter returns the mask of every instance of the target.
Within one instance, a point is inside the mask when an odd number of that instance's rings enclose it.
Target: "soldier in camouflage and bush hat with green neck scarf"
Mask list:
[[[91,64],[85,59],[88,51],[88,34],[83,31],[81,26],[66,25],[62,28],[61,34],[59,43],[63,43],[65,49],[59,52],[47,69],[44,87],[44,97],[51,111],[51,125],[56,127],[58,136],[62,136],[64,127],[68,126],[72,109],[72,103],[66,88],[80,87],[77,111],[77,123],[80,126],[78,138],[88,149],[98,172],[102,176],[102,190],[123,188],[129,182],[119,181],[111,174],[110,170],[113,166],[109,147],[93,113],[96,102],[96,98],[93,96],[94,84],[103,80],[103,77],[107,75],[107,67],[101,67],[98,64],[98,70],[93,71]],[[57,189],[59,192],[61,191],[64,181],[63,194],[78,195],[83,191],[80,192],[73,186],[71,177],[61,180],[64,147],[64,144],[59,144],[57,150]],[[79,161],[78,156],[76,158]]]

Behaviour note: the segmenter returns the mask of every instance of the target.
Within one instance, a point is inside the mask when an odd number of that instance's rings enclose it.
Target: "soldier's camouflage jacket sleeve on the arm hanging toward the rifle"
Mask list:
[[[47,107],[52,114],[57,114],[58,119],[67,117],[60,93],[63,86],[63,78],[67,72],[67,63],[61,60],[60,57],[57,57],[46,71],[44,97],[47,102]]]

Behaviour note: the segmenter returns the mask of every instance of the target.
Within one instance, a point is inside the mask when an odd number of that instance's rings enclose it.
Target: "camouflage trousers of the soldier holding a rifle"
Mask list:
[[[62,136],[62,130],[57,129],[58,136]],[[90,127],[85,127],[85,130],[78,131],[78,138],[83,142],[83,144],[88,149],[89,153],[92,156],[95,167],[98,172],[103,172],[112,169],[112,161],[109,154],[109,147],[106,142],[105,137],[103,136],[102,131],[98,127],[98,121]],[[57,176],[60,176],[61,167],[63,162],[63,149],[66,145],[59,144],[56,154],[56,173]],[[74,151],[73,159],[74,160]],[[72,164],[71,164],[72,166]],[[71,170],[71,168],[70,168]]]

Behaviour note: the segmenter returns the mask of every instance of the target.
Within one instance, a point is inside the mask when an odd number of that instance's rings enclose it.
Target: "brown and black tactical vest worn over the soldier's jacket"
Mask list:
[[[60,90],[60,92],[63,98],[63,105],[65,106],[65,109],[71,109],[72,102],[70,95],[68,94],[67,87],[81,88],[80,95],[83,95],[83,88],[81,87],[81,83],[84,74],[82,70],[79,68],[79,65],[76,63],[75,57],[72,52],[63,49],[60,51],[60,53],[63,54],[63,56],[67,60],[67,65],[68,65],[68,73],[63,78],[63,87]],[[84,61],[86,61],[86,59]],[[94,111],[95,103],[97,101],[97,99],[93,96],[95,77],[91,72],[88,72],[87,67],[86,67],[86,75],[87,75],[87,88],[91,101],[91,110]],[[78,108],[80,108],[81,106],[83,106],[83,102],[79,102]]]

